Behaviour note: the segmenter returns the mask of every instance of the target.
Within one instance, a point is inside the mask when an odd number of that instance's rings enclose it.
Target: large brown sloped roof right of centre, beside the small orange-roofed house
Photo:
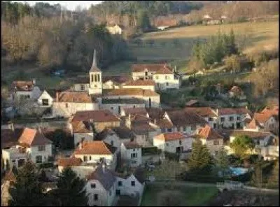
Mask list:
[[[193,124],[207,124],[200,115],[193,111],[185,110],[167,110],[167,115],[174,124],[174,126],[186,126]]]

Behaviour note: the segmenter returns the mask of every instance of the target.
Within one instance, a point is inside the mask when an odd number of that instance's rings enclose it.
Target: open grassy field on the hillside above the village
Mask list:
[[[167,60],[176,65],[177,69],[186,71],[186,59],[190,56],[193,43],[200,40],[206,40],[216,34],[218,29],[221,32],[229,32],[233,28],[237,36],[237,43],[241,43],[241,38],[246,34],[246,44],[244,52],[253,50],[270,50],[278,48],[279,22],[243,22],[235,24],[219,25],[197,25],[167,29],[165,31],[156,31],[144,34],[140,38],[143,45],[138,46],[130,43],[130,52],[140,61],[150,60],[159,62]],[[174,40],[178,41],[174,44]],[[149,41],[154,44],[150,45]]]

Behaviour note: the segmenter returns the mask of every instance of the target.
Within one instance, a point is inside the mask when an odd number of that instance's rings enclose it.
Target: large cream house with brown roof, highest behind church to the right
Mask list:
[[[154,80],[155,90],[179,89],[181,81],[167,64],[133,64],[133,80]]]

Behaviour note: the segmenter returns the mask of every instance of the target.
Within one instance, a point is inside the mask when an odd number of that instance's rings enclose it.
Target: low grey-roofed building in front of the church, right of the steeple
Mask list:
[[[144,108],[144,99],[130,98],[130,99],[102,99],[100,108],[110,110],[116,115],[120,115],[123,108]]]

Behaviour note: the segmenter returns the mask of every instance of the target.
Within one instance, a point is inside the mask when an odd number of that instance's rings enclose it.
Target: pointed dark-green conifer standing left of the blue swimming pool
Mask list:
[[[193,151],[188,159],[188,168],[192,173],[211,172],[211,155],[206,145],[199,138],[193,142]]]

